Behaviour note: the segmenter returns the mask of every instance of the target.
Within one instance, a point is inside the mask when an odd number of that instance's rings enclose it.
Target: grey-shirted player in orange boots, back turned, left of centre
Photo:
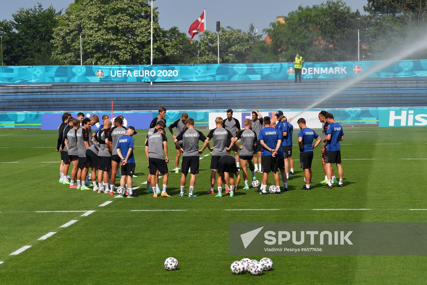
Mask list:
[[[164,128],[158,128],[157,132],[149,136],[145,143],[145,155],[149,161],[151,184],[156,184],[156,173],[159,172],[163,174],[163,187],[161,197],[170,197],[166,193],[167,179],[169,177],[169,170],[167,168],[169,158],[167,157],[167,138],[164,133]],[[158,189],[157,187],[153,187],[153,197],[157,198],[158,190],[160,189]]]

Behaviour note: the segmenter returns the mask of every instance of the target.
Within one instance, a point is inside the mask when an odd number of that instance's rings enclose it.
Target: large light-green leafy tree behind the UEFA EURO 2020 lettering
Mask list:
[[[80,64],[76,23],[82,24],[83,64],[150,64],[151,6],[148,0],[75,0],[58,17],[53,33],[53,59],[61,65]],[[153,12],[153,63],[163,62],[165,39]]]

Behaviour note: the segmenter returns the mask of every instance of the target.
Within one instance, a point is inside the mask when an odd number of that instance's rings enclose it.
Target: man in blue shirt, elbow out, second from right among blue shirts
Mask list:
[[[301,129],[298,132],[299,162],[301,168],[304,169],[304,176],[306,181],[305,186],[301,188],[301,190],[310,190],[311,179],[313,178],[313,172],[311,171],[311,162],[313,162],[313,149],[315,149],[320,144],[322,139],[312,129],[307,128],[304,118],[299,118],[297,123]],[[316,139],[316,143],[313,146],[314,139]]]

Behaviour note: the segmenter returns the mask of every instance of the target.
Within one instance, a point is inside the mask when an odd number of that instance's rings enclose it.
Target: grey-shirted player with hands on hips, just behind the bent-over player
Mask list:
[[[227,151],[230,150],[230,146],[226,148],[227,141],[233,138],[231,132],[228,129],[224,129],[222,124],[224,120],[221,117],[216,117],[215,119],[216,128],[211,129],[206,138],[205,144],[203,147],[208,146],[209,150],[212,151],[211,156],[211,190],[208,191],[208,194],[213,194],[215,191],[213,188],[215,187],[216,181],[216,170],[218,169],[218,163],[221,156],[227,154]],[[213,147],[210,147],[209,140],[213,139]],[[227,189],[228,190],[228,189]],[[228,192],[227,192],[228,193]]]

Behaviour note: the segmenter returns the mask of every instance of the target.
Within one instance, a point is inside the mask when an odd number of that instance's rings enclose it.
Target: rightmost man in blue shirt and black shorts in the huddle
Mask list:
[[[342,165],[341,165],[341,147],[339,142],[344,139],[344,132],[342,132],[342,126],[333,119],[333,115],[328,113],[325,116],[326,121],[329,123],[328,129],[326,129],[326,137],[324,142],[328,142],[325,150],[325,162],[326,170],[328,171],[328,186],[325,188],[333,188],[332,186],[332,163],[336,163],[338,168],[339,182],[338,187],[343,187],[342,185]]]

